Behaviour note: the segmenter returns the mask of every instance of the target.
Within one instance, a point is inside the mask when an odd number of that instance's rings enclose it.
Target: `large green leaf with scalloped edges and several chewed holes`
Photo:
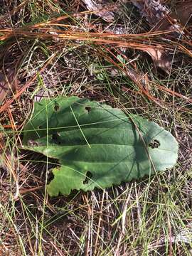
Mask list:
[[[36,102],[23,129],[25,149],[58,159],[50,196],[106,188],[176,164],[178,143],[142,117],[78,97]]]

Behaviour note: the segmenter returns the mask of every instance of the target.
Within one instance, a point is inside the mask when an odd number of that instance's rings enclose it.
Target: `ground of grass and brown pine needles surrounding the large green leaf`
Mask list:
[[[192,255],[192,2],[0,0],[0,255]],[[87,97],[176,137],[176,166],[50,198],[33,103]]]

